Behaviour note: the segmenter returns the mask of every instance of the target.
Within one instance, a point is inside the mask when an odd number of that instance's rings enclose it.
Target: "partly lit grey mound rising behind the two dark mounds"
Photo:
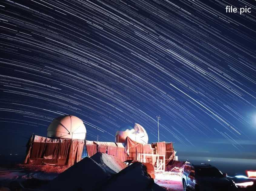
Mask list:
[[[93,155],[91,159],[98,163],[110,174],[116,174],[127,167],[125,163],[120,161],[114,155],[108,155],[106,153],[98,152]]]

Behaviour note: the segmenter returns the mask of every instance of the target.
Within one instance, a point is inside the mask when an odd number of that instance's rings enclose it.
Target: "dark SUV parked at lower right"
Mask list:
[[[233,180],[227,178],[210,164],[186,164],[182,170],[182,184],[185,191],[236,191]]]

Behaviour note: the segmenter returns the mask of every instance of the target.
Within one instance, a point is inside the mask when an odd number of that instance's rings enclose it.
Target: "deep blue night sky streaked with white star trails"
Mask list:
[[[0,41],[0,154],[69,114],[156,142],[160,115],[177,155],[256,158],[254,0],[1,0]]]

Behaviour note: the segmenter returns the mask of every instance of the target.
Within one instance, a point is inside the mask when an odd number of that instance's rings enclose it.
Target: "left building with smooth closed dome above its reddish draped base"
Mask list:
[[[47,137],[31,136],[24,163],[73,165],[81,160],[85,137],[86,128],[81,119],[60,116],[49,125]]]

